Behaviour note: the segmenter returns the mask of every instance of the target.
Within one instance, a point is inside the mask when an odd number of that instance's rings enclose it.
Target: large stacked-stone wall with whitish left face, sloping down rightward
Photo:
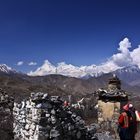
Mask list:
[[[87,127],[59,96],[31,93],[14,103],[13,115],[15,140],[97,140],[95,125]]]

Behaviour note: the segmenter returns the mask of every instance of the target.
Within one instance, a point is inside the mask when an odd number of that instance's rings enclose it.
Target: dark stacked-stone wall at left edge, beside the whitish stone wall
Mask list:
[[[13,104],[14,99],[0,89],[0,137],[13,139]]]

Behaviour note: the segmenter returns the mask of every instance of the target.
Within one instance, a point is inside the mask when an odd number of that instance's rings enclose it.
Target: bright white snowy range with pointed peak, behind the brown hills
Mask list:
[[[104,67],[103,65],[96,66],[74,66],[72,64],[66,64],[65,62],[58,63],[56,66],[51,64],[48,60],[35,71],[28,73],[30,76],[45,76],[49,74],[60,74],[69,77],[98,77],[103,73],[110,72],[109,67]],[[114,69],[113,69],[114,70]]]

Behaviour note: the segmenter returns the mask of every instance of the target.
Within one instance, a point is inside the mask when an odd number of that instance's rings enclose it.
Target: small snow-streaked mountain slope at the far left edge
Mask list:
[[[6,64],[0,64],[0,73],[12,74],[12,73],[18,73],[18,72],[12,69],[11,67],[7,66]]]

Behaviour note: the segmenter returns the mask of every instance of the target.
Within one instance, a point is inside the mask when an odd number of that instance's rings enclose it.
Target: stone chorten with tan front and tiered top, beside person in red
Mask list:
[[[101,131],[111,132],[117,140],[118,118],[122,106],[128,102],[128,95],[121,89],[121,81],[116,75],[109,79],[107,89],[99,89],[96,93],[98,94],[98,124]]]

